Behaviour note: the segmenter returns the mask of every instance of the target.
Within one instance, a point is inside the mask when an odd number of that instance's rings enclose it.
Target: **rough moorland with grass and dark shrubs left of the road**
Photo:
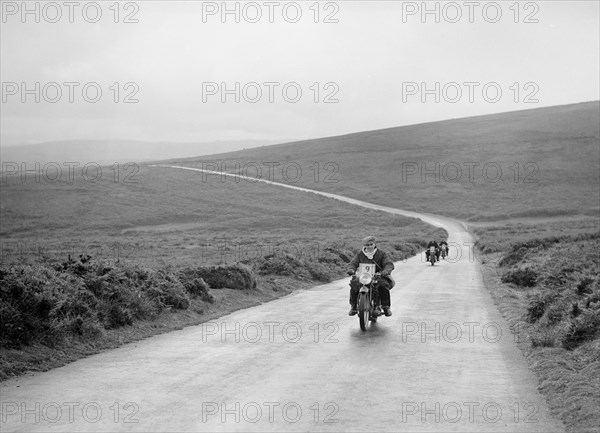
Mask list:
[[[396,260],[445,235],[415,219],[264,184],[151,167],[135,180],[6,179],[0,379],[343,278],[367,234]],[[256,287],[240,290],[229,268],[213,269],[237,263]],[[199,278],[214,302],[196,293]]]

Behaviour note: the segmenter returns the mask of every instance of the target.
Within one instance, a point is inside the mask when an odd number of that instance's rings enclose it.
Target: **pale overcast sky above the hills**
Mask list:
[[[594,101],[599,4],[2,1],[0,140],[285,142]]]

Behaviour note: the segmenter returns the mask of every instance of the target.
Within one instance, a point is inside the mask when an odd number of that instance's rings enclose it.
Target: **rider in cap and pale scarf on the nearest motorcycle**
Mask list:
[[[352,261],[348,263],[346,273],[352,275],[350,280],[350,311],[348,315],[354,316],[357,314],[356,303],[358,302],[358,292],[360,290],[360,283],[358,278],[354,275],[358,265],[361,263],[375,263],[375,269],[381,274],[379,281],[375,285],[373,296],[375,303],[379,305],[381,300],[381,306],[383,307],[383,313],[386,316],[392,315],[391,310],[391,299],[390,289],[394,287],[394,280],[390,277],[390,274],[394,270],[394,262],[390,259],[390,256],[385,252],[377,248],[375,244],[374,236],[367,236],[363,239],[362,250],[354,256]],[[379,307],[377,307],[379,309]],[[378,311],[381,314],[381,310]]]

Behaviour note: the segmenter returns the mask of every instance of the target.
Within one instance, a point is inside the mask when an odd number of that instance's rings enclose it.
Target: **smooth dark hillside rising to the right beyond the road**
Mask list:
[[[217,161],[225,171],[250,176],[256,176],[258,165],[263,178],[278,182],[469,220],[598,214],[599,119],[600,103],[590,102],[180,162],[202,168]],[[236,163],[242,170],[235,170]],[[297,167],[301,176],[296,176]]]

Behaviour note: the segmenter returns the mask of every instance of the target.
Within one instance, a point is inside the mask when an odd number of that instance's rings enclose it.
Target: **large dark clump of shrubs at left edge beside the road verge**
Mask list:
[[[205,289],[202,284],[192,281],[190,291]],[[55,265],[0,267],[0,346],[98,338],[103,328],[153,318],[167,306],[189,305],[188,290],[168,269],[107,266],[89,256]]]

